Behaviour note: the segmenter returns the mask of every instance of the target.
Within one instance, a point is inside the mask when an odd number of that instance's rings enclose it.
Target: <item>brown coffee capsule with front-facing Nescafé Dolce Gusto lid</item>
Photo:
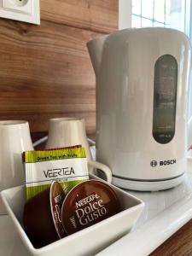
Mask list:
[[[107,183],[88,180],[79,183],[66,196],[61,218],[67,235],[83,230],[120,212],[115,191]]]

